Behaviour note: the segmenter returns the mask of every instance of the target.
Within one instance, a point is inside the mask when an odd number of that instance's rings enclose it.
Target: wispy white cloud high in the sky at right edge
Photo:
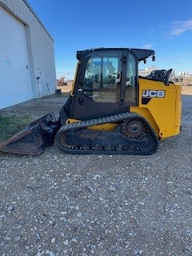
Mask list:
[[[192,30],[192,19],[186,22],[180,22],[180,21],[172,22],[172,29],[170,34],[173,36],[177,36],[186,32],[187,30]]]

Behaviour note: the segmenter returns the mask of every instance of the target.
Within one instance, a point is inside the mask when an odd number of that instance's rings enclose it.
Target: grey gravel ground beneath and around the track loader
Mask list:
[[[191,256],[191,99],[181,134],[151,156],[0,153],[0,255]],[[1,112],[41,116],[62,102]]]

